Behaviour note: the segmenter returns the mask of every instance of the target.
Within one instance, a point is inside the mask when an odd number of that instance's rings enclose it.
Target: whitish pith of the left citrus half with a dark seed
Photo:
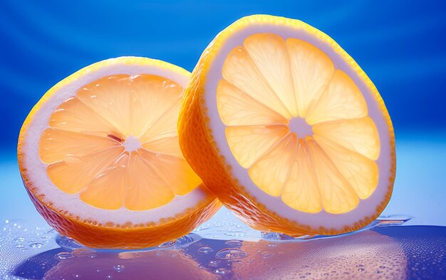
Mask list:
[[[147,61],[152,61],[147,59]],[[103,63],[103,62],[102,62]],[[128,64],[125,58],[113,58],[106,61],[106,64],[95,71],[85,71],[72,83],[63,85],[51,95],[41,108],[33,115],[33,119],[28,124],[26,135],[22,146],[22,154],[24,155],[23,167],[26,169],[29,182],[33,182],[33,195],[40,197],[45,204],[52,204],[53,208],[61,211],[68,211],[68,214],[80,217],[83,220],[92,220],[105,224],[113,222],[114,224],[123,224],[131,222],[133,224],[141,224],[148,222],[160,222],[160,219],[175,217],[182,214],[186,209],[195,208],[200,202],[209,199],[209,195],[200,185],[186,195],[176,195],[168,204],[155,209],[145,211],[132,211],[124,206],[120,209],[109,210],[93,207],[83,202],[79,198],[79,194],[70,195],[63,192],[51,182],[46,172],[47,164],[43,163],[38,155],[39,141],[44,130],[49,128],[48,120],[54,110],[64,100],[76,95],[79,88],[83,85],[98,80],[104,76],[127,74],[130,76],[138,74],[152,74],[162,76],[175,81],[183,88],[186,87],[189,80],[188,76],[180,72],[165,69],[157,65],[147,64]],[[140,145],[138,138],[129,138],[127,144],[124,143],[126,150],[135,150]]]

